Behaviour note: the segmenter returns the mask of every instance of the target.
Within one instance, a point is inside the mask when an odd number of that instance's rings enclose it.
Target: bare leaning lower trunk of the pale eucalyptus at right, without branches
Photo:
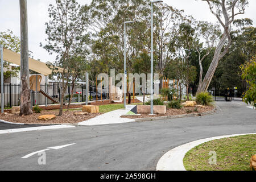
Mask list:
[[[226,39],[228,38],[228,35],[224,34],[221,38],[220,43],[218,43],[218,46],[216,47],[214,57],[212,60],[212,63],[210,64],[210,67],[208,69],[207,75],[205,75],[204,80],[201,84],[201,86],[197,89],[197,93],[201,92],[207,92],[210,82],[212,81],[213,75],[218,67],[218,63],[221,59],[221,51],[226,43]],[[227,47],[228,48],[228,47]],[[227,49],[226,48],[226,49]]]

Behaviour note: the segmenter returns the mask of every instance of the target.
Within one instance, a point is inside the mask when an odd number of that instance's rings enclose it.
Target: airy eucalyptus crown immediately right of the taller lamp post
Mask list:
[[[175,57],[176,47],[174,40],[179,35],[180,24],[188,21],[188,18],[183,15],[183,11],[168,6],[166,3],[158,3],[156,5],[154,38],[160,78],[163,77],[166,66]]]

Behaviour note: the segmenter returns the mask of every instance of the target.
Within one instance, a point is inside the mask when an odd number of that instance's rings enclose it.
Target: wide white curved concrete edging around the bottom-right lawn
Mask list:
[[[183,144],[182,146],[176,147],[168,151],[166,154],[164,154],[156,166],[156,171],[186,171],[183,164],[183,159],[185,157],[185,154],[187,154],[188,151],[192,150],[192,148],[195,148],[200,144],[203,144],[212,140],[216,140],[216,139],[237,137],[242,135],[255,135],[255,134],[256,133],[224,135],[221,137],[206,138],[206,139],[196,140],[187,144]]]

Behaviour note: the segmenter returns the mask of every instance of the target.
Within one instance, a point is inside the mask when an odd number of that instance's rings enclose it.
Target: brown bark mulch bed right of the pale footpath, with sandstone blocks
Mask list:
[[[197,111],[195,111],[195,107],[183,107],[181,109],[167,109],[166,114],[155,114],[155,115],[148,115],[148,114],[141,114],[141,115],[129,115],[129,116],[122,116],[122,118],[129,118],[129,119],[137,119],[137,118],[154,118],[154,117],[162,117],[167,115],[183,115],[183,114],[200,114],[205,113],[207,111],[211,111],[214,109],[214,106],[205,106],[206,108],[197,107]]]

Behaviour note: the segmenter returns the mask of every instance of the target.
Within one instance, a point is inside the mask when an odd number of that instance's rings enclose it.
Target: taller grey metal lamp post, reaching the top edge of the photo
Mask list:
[[[160,2],[163,2],[162,0],[153,0],[151,1],[151,79],[150,79],[150,82],[151,82],[151,85],[150,85],[150,88],[151,88],[151,115],[154,114],[154,93],[153,93],[153,78],[154,78],[154,64],[153,64],[153,59],[154,59],[154,56],[153,56],[153,53],[154,53],[154,45],[153,45],[153,36],[154,36],[154,7],[153,7],[153,4],[154,3],[160,3]]]

